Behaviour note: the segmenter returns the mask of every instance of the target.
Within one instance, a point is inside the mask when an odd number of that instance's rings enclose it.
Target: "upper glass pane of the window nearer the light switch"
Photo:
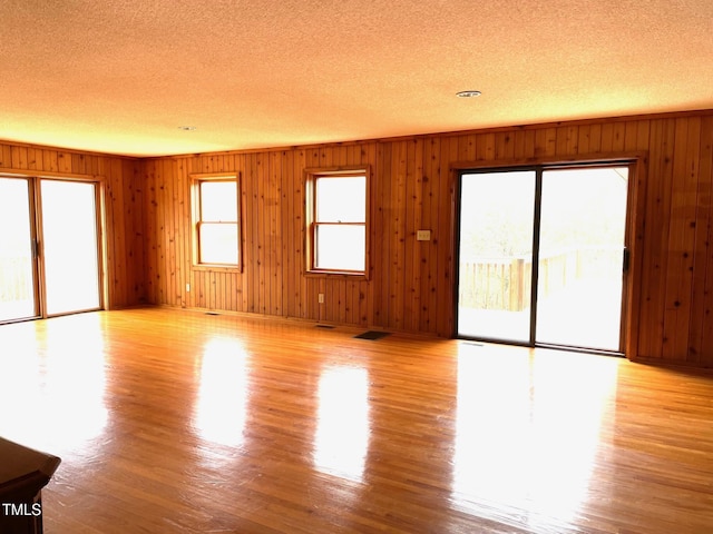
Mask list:
[[[318,178],[315,211],[318,222],[364,222],[367,177]]]

